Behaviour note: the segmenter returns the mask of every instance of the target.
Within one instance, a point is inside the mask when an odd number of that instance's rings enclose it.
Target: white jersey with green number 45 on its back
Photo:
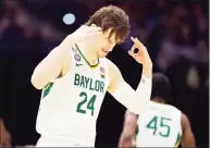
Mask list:
[[[177,147],[182,136],[182,112],[173,106],[150,102],[138,116],[137,147]]]

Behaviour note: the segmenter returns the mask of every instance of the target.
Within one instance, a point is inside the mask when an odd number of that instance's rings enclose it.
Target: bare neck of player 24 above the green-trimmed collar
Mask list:
[[[86,60],[91,64],[96,64],[98,62],[98,57],[95,53],[95,50],[92,49],[91,46],[86,45],[85,42],[79,42],[77,44],[79,50],[82,51],[82,53],[84,54],[84,57],[86,58]]]

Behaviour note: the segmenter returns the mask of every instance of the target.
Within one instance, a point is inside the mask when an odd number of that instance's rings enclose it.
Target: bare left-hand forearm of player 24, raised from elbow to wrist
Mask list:
[[[58,77],[66,55],[70,55],[71,47],[74,44],[71,36],[67,36],[60,46],[54,48],[34,70],[32,84],[37,88],[44,88],[50,81]]]

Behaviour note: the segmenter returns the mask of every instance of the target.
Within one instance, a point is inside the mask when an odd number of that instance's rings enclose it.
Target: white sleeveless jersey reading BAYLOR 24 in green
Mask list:
[[[36,130],[41,135],[95,143],[96,122],[109,85],[108,59],[89,65],[77,46],[71,71],[44,90]]]

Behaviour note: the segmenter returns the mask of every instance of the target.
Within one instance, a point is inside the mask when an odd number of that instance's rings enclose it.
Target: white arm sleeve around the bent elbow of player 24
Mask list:
[[[141,76],[136,91],[124,82],[112,96],[135,114],[144,113],[149,104],[151,96],[151,78]]]

